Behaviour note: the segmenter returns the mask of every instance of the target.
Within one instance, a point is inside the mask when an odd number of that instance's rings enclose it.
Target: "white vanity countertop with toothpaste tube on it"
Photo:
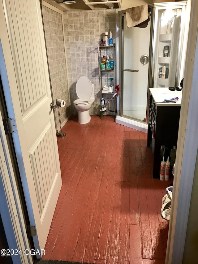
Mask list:
[[[168,87],[149,88],[149,90],[153,96],[154,101],[159,102],[157,103],[157,106],[181,106],[182,90],[170,91]],[[174,97],[179,97],[179,100],[176,103],[163,103],[164,99],[171,99]]]

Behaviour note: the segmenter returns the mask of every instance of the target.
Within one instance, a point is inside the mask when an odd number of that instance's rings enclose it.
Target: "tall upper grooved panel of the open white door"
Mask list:
[[[15,64],[20,65],[17,79],[22,114],[46,94],[40,28],[37,19],[33,20],[38,17],[40,6],[34,5],[31,1],[14,1],[6,9]]]

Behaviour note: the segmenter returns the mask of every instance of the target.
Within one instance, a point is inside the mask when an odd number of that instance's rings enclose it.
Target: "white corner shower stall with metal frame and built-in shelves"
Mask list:
[[[189,25],[186,1],[148,7],[151,16],[145,28],[127,27],[125,10],[117,15],[120,98],[116,123],[142,132],[147,132],[148,88],[176,86],[183,78]],[[167,70],[164,78],[160,75],[163,67]]]

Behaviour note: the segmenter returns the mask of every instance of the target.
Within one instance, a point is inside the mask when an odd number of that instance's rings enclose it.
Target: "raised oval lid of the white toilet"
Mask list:
[[[92,95],[92,83],[86,76],[81,76],[76,83],[75,90],[78,98],[89,99]]]

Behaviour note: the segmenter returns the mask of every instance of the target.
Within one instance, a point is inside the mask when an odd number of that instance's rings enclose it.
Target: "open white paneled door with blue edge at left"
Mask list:
[[[35,247],[44,249],[62,182],[39,0],[0,0],[0,24],[13,141]]]

